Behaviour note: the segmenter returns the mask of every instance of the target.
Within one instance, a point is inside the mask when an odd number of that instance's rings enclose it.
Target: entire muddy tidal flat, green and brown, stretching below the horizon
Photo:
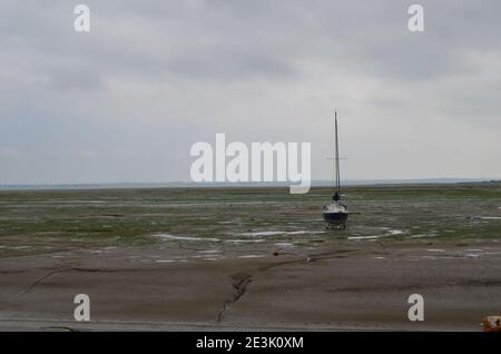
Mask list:
[[[334,232],[326,193],[0,193],[0,330],[481,331],[500,314],[498,186],[352,188]]]

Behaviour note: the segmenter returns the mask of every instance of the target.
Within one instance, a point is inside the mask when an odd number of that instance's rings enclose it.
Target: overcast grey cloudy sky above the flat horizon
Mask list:
[[[334,109],[345,179],[501,178],[500,16],[499,0],[2,0],[0,184],[189,181],[190,147],[217,132],[311,142],[328,179]]]

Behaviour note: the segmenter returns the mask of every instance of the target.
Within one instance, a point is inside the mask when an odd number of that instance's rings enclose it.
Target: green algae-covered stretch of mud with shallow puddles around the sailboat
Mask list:
[[[330,188],[0,191],[0,257],[106,247],[252,255],[341,242],[501,239],[501,185],[348,187],[347,229],[327,232]],[[282,246],[281,246],[282,245]]]

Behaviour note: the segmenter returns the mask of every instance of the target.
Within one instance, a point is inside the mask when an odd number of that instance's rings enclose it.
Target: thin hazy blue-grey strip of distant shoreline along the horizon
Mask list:
[[[347,180],[345,187],[403,185],[501,184],[501,178],[422,178]],[[91,190],[91,189],[169,189],[169,188],[279,188],[291,183],[110,183],[110,184],[0,184],[0,190]],[[312,187],[331,187],[332,181],[313,180]]]

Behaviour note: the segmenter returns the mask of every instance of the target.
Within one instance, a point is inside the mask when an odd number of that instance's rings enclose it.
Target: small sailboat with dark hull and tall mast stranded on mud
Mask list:
[[[337,142],[337,111],[334,112],[334,166],[335,166],[335,187],[332,201],[324,206],[324,220],[327,228],[346,228],[348,217],[347,208],[341,203],[341,175],[340,175],[340,146]]]

